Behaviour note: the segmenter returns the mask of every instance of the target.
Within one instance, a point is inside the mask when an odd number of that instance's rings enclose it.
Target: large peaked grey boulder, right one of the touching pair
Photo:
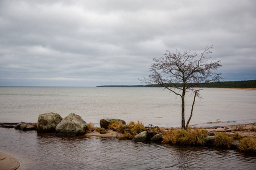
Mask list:
[[[81,116],[70,113],[56,126],[56,134],[64,136],[77,136],[86,133],[87,124]]]

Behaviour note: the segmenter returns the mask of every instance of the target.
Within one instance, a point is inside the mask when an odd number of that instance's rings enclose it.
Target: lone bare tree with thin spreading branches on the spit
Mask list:
[[[222,65],[220,61],[209,61],[210,57],[205,57],[212,53],[210,49],[213,45],[206,47],[200,56],[191,53],[190,50],[180,53],[171,53],[168,50],[163,57],[154,58],[150,67],[151,74],[148,78],[141,80],[147,84],[159,84],[167,88],[177,96],[181,97],[181,128],[187,129],[193,114],[193,106],[196,97],[200,97],[200,90],[196,89],[200,84],[209,82],[220,82],[221,73],[215,73]],[[191,115],[185,126],[185,94],[191,91],[194,93]]]

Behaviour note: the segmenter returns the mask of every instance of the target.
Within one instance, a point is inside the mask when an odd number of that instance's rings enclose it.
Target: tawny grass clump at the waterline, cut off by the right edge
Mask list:
[[[244,137],[241,139],[238,150],[242,152],[256,152],[256,138],[254,137]]]

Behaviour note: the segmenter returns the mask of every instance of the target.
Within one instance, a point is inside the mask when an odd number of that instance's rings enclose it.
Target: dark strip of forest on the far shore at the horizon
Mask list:
[[[97,86],[97,87],[161,87],[161,86],[158,85],[158,84],[151,84],[151,85],[145,85],[145,86],[143,86],[143,85],[135,85],[135,86]],[[200,84],[198,87],[209,87],[209,88],[256,88],[256,80],[208,83],[208,84]]]

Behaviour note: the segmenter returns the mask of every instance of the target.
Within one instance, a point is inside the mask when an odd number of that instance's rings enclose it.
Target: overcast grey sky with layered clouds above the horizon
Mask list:
[[[256,79],[256,1],[0,0],[0,86],[143,85],[210,45],[225,81]]]

